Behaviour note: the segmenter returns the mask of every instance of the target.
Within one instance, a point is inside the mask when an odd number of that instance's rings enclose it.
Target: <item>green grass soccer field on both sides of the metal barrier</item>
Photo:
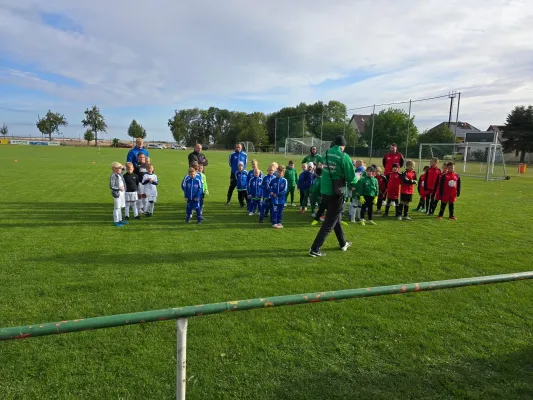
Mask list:
[[[115,228],[126,150],[0,146],[0,327],[532,269],[531,175],[465,178],[457,221],[376,217],[310,259],[309,215],[273,230],[224,206],[228,153],[207,153],[206,221],[185,225],[186,153],[151,151],[154,217]],[[530,399],[532,309],[525,281],[194,318],[188,398]],[[173,321],[2,342],[0,398],[171,399],[175,368]]]

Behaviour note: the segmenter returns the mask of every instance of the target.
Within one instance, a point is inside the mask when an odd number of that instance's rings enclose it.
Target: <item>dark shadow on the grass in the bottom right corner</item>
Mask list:
[[[326,364],[316,371],[308,371],[303,380],[281,375],[279,390],[273,398],[533,398],[532,348],[503,357],[459,358],[455,363],[430,366],[406,363],[404,368],[397,366],[395,371],[391,371],[391,363],[398,361],[383,360],[367,370],[357,362],[346,363],[342,370],[328,370]]]

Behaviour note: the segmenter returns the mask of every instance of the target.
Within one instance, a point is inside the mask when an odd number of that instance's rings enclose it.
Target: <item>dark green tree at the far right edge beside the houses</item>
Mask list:
[[[506,152],[520,153],[523,163],[526,153],[533,152],[533,106],[517,106],[507,116],[507,123],[503,128],[503,149]]]

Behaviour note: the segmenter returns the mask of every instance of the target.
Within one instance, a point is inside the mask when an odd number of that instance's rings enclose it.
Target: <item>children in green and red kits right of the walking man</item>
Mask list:
[[[405,171],[400,172],[399,165],[392,164],[392,170],[387,174],[383,174],[382,169],[375,165],[364,169],[364,163],[357,161],[356,183],[349,185],[347,190],[351,222],[376,225],[373,221],[374,206],[377,214],[385,207],[384,217],[389,216],[390,207],[394,206],[396,219],[410,221],[409,207],[413,201],[415,186],[420,200],[413,211],[433,215],[440,201],[438,219],[443,218],[448,206],[449,218],[455,220],[454,206],[461,194],[461,179],[455,173],[453,162],[444,163],[442,169],[438,168],[438,163],[438,158],[431,159],[431,165],[425,166],[420,179],[417,179],[415,163],[411,160],[405,163]]]

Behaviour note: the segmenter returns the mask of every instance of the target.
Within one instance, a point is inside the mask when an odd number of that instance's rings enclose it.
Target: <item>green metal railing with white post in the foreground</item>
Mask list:
[[[407,283],[391,286],[376,286],[360,289],[275,296],[250,300],[229,301],[224,303],[204,304],[198,306],[169,308],[165,310],[144,311],[130,314],[117,314],[105,317],[74,319],[70,321],[50,322],[45,324],[26,325],[12,328],[0,328],[0,340],[28,339],[37,336],[56,335],[60,333],[80,332],[93,329],[176,319],[178,342],[176,398],[183,400],[185,399],[187,318],[189,317],[199,317],[202,315],[218,314],[222,312],[247,311],[255,308],[320,303],[324,301],[384,296],[390,294],[418,293],[430,290],[453,289],[465,286],[487,285],[525,279],[533,279],[533,271],[474,278],[450,279],[445,281]]]

